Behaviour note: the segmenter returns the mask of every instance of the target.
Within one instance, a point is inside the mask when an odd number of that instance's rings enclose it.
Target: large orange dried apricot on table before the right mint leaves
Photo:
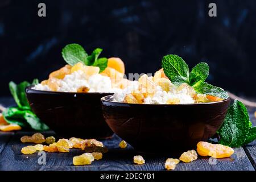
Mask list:
[[[212,156],[213,158],[228,158],[234,154],[234,150],[231,147],[208,142],[197,143],[196,150],[201,156]]]

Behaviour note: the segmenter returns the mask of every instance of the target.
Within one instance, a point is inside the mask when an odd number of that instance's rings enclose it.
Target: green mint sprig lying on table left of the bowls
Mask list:
[[[48,130],[49,127],[40,121],[32,112],[28,104],[25,89],[27,86],[38,84],[38,80],[33,80],[32,84],[23,81],[16,85],[13,81],[9,83],[10,92],[18,107],[9,107],[3,111],[3,117],[8,123],[13,123],[24,128],[31,128],[38,131]]]

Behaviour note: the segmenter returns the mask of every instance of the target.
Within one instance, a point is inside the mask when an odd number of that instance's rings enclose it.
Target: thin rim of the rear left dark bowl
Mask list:
[[[108,96],[114,94],[114,93],[105,93],[105,92],[87,92],[87,93],[79,93],[79,92],[55,92],[55,91],[47,91],[47,90],[36,90],[32,89],[35,85],[30,85],[26,87],[26,94],[29,93],[37,93],[37,94],[63,94],[63,95],[101,95],[101,94],[108,94]]]

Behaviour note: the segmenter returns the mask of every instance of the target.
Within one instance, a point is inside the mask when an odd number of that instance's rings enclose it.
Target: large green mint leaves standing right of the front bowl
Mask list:
[[[218,143],[229,147],[240,147],[256,139],[256,127],[252,127],[249,114],[242,102],[235,100],[229,107],[218,135]]]

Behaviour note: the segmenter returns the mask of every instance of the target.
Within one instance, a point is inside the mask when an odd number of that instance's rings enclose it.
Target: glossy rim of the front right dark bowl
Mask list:
[[[113,99],[113,95],[109,96],[104,96],[101,98],[101,103],[104,105],[105,103],[111,103],[113,105],[122,105],[122,106],[198,106],[198,105],[214,105],[214,104],[221,104],[224,102],[229,102],[230,97],[226,98],[225,100],[222,101],[216,101],[216,102],[203,102],[203,103],[195,103],[195,104],[129,104],[129,103],[124,103],[124,102],[117,102],[117,101],[110,101],[108,100]]]

